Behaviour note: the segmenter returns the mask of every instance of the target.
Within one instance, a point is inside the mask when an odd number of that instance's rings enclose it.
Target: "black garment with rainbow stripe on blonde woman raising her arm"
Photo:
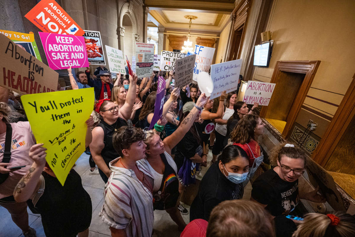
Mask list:
[[[153,209],[166,210],[176,205],[179,198],[179,180],[174,169],[169,165],[164,153],[160,154],[164,162],[165,169],[162,184],[158,192],[153,193],[154,203]]]

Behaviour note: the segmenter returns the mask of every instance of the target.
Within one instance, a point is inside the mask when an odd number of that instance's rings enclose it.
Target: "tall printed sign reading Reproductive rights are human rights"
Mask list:
[[[138,78],[152,75],[154,46],[154,44],[136,42],[136,74]]]

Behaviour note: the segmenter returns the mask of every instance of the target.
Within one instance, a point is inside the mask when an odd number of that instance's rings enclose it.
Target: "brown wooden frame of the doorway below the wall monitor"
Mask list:
[[[275,65],[274,72],[271,77],[271,83],[276,83],[276,79],[278,78],[281,71],[286,72],[295,72],[295,73],[302,73],[306,74],[303,82],[299,88],[299,91],[292,103],[290,108],[290,112],[286,119],[286,125],[282,132],[282,136],[284,138],[288,137],[292,133],[292,126],[296,122],[297,115],[301,110],[301,106],[305,101],[307,96],[308,90],[311,87],[313,82],[314,75],[318,69],[319,64],[321,63],[320,60],[312,60],[312,61],[277,61]],[[277,84],[276,84],[277,86]],[[264,117],[268,110],[268,106],[263,106],[260,111],[260,117]],[[318,147],[318,146],[317,146]]]

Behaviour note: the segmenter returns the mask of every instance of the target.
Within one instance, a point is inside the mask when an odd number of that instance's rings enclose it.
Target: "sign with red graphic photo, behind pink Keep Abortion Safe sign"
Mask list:
[[[92,65],[106,65],[99,31],[84,31],[84,40],[88,61]]]

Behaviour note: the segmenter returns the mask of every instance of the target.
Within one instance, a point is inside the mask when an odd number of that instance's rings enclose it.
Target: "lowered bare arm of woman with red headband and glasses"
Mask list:
[[[110,168],[106,165],[104,158],[102,158],[101,151],[104,149],[104,130],[101,127],[95,127],[92,130],[92,142],[90,143],[90,152],[97,167],[110,177]]]

